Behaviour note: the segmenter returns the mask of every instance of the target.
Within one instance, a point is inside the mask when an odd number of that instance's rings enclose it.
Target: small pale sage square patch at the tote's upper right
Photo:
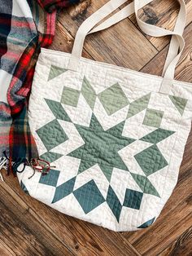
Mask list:
[[[156,109],[147,108],[143,125],[159,128],[164,112]]]

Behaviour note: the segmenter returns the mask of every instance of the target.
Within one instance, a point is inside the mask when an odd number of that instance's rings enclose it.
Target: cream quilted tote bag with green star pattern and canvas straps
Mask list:
[[[174,31],[138,18],[150,0],[99,23],[125,2],[111,0],[85,20],[72,54],[41,49],[28,117],[39,158],[51,168],[18,174],[30,196],[114,231],[148,227],[159,216],[176,186],[192,117],[191,84],[173,80],[185,45],[184,1]],[[144,33],[172,35],[162,77],[81,57],[88,33],[133,12]]]

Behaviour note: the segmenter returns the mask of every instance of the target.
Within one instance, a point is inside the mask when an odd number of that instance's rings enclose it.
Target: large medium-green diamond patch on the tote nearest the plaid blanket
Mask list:
[[[62,126],[60,126],[57,119],[50,121],[45,126],[42,126],[40,129],[38,129],[37,135],[48,151],[59,146],[59,144],[65,142],[68,139],[68,136],[64,132]]]

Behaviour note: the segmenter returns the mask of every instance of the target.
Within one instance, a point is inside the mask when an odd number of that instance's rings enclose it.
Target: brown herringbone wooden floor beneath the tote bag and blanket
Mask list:
[[[76,29],[107,0],[84,0],[59,14],[52,49],[72,50]],[[188,11],[185,51],[177,66],[178,80],[192,82],[192,0]],[[178,4],[155,0],[140,11],[143,20],[172,29]],[[147,37],[135,16],[102,33],[90,35],[84,56],[160,75],[169,38]],[[0,182],[0,255],[192,255],[192,132],[177,183],[154,225],[143,231],[116,233],[70,218],[43,205],[20,189],[16,178]]]

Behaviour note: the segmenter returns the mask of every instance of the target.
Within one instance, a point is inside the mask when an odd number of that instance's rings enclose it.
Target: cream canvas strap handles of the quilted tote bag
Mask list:
[[[168,29],[156,27],[155,25],[146,24],[138,18],[137,11],[151,1],[152,0],[135,0],[134,2],[130,3],[127,7],[124,7],[115,15],[112,15],[110,18],[105,20],[103,24],[98,25],[98,27],[96,28],[94,28],[94,26],[98,24],[99,21],[103,20],[105,17],[107,17],[107,15],[111,14],[111,12],[115,11],[124,2],[127,2],[127,0],[111,0],[107,2],[103,7],[98,9],[98,11],[96,11],[93,15],[90,15],[89,18],[85,20],[83,24],[81,24],[80,28],[76,33],[76,38],[72,49],[72,56],[69,61],[68,68],[74,71],[77,70],[78,64],[81,60],[81,54],[85,37],[88,33],[94,33],[103,29],[107,29],[111,25],[118,23],[120,20],[124,20],[124,18],[127,18],[129,15],[135,12],[137,24],[144,33],[151,35],[152,37],[172,35],[172,41],[169,46],[167,60],[164,65],[164,79],[159,90],[161,93],[168,94],[172,86],[172,80],[174,79],[174,73],[177,62],[185,46],[185,41],[182,37],[182,33],[185,28],[185,2],[184,0],[178,0],[178,2],[180,2],[181,9],[177,17],[175,29],[174,31],[170,31]]]

